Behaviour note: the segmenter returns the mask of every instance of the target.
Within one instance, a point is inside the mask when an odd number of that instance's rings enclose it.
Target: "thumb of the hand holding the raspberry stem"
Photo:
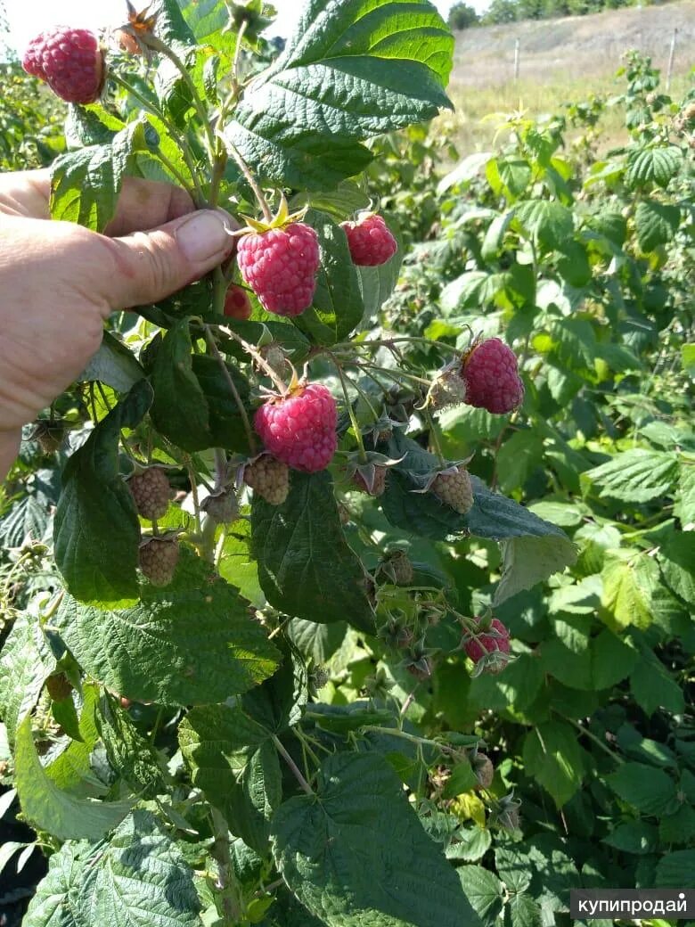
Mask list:
[[[235,224],[223,210],[197,210],[149,232],[110,239],[117,273],[101,281],[102,295],[114,310],[170,296],[232,254]]]

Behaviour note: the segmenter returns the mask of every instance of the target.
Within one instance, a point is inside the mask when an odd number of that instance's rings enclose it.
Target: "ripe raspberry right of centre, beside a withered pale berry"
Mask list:
[[[512,412],[524,401],[516,355],[499,338],[481,341],[463,362],[465,402],[487,412]]]

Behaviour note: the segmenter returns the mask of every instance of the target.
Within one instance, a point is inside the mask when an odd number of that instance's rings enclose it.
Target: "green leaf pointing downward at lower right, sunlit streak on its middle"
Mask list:
[[[584,778],[584,752],[576,732],[562,721],[539,724],[526,734],[524,766],[559,808],[579,789]]]

